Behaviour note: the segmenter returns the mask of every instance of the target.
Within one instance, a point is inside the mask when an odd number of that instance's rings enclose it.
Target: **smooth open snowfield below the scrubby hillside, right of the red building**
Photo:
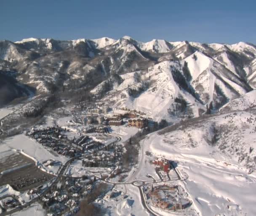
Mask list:
[[[186,134],[183,130],[155,133],[145,139],[143,150],[178,163],[184,187],[200,215],[256,215],[256,175],[248,174],[235,157],[224,160],[227,154],[203,141],[203,133],[195,127],[187,129]],[[139,164],[141,172],[144,166],[145,159]]]

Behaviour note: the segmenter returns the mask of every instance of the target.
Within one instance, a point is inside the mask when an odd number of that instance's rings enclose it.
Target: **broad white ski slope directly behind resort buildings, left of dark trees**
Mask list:
[[[179,85],[173,79],[173,70],[179,68],[178,61],[165,61],[148,68],[147,71],[136,71],[122,75],[123,82],[114,92],[106,97],[111,97],[114,107],[127,107],[147,113],[155,120],[162,118],[169,119],[168,109],[172,108],[176,97],[184,99],[195,108],[194,114],[198,116],[198,109],[204,109],[204,106],[186,90],[180,89]],[[139,78],[138,78],[139,76]],[[138,91],[136,95],[129,94],[129,90]],[[115,95],[113,97],[113,95]]]

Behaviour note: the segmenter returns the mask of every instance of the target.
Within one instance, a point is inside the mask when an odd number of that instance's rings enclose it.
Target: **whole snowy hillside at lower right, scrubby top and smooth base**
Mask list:
[[[255,215],[255,114],[236,111],[185,121],[150,134],[142,149],[176,161],[199,215]]]

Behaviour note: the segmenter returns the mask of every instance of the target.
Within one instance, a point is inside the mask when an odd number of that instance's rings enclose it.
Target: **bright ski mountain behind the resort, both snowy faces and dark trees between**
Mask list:
[[[133,45],[120,45],[129,51]],[[127,56],[123,53],[121,59]],[[187,72],[186,72],[187,71]],[[189,74],[189,75],[188,75]],[[170,111],[175,98],[187,102],[187,113],[199,116],[206,104],[213,102],[218,109],[229,100],[244,95],[250,88],[232,71],[196,51],[182,61],[163,61],[147,68],[120,75],[122,82],[113,86],[105,100],[111,100],[115,108],[127,107],[147,113],[159,121],[162,118],[175,121]],[[105,83],[99,84],[93,94],[102,92]]]

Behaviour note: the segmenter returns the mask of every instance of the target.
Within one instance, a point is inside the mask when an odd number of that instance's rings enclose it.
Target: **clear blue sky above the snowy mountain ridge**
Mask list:
[[[1,0],[0,40],[125,35],[256,44],[255,0]]]

